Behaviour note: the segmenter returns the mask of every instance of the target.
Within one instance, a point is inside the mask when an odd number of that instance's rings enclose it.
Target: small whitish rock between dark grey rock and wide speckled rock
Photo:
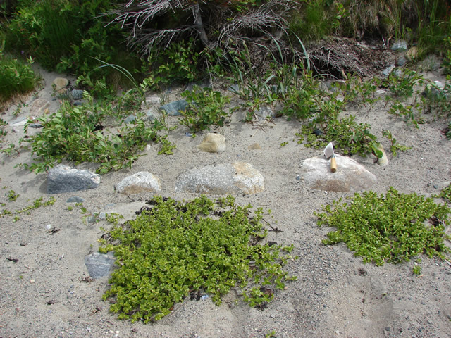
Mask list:
[[[127,176],[116,184],[116,192],[125,195],[140,194],[141,192],[159,192],[160,190],[159,178],[147,171],[140,171]]]

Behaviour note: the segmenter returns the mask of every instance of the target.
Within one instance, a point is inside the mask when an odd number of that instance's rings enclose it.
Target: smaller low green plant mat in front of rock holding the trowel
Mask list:
[[[340,202],[315,213],[319,226],[337,229],[323,243],[344,242],[365,263],[399,263],[421,253],[445,258],[450,251],[443,239],[450,239],[445,227],[450,225],[451,209],[432,198],[401,194],[390,187],[385,196],[369,191],[354,194],[350,203]]]

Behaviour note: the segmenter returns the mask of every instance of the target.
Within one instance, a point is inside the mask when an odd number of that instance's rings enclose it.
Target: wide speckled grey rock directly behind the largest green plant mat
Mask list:
[[[235,162],[221,165],[206,165],[188,170],[175,182],[175,192],[198,194],[244,194],[262,192],[264,177],[249,163]]]

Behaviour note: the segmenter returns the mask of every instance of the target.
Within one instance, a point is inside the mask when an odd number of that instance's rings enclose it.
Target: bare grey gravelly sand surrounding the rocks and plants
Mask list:
[[[34,97],[51,100],[51,81],[61,76],[45,73],[45,88]],[[428,73],[431,80],[442,80],[439,73]],[[33,96],[27,98],[32,101]],[[419,129],[387,113],[383,101],[373,108],[355,108],[359,122],[371,124],[385,149],[389,142],[382,130],[389,129],[397,142],[412,149],[399,152],[382,167],[373,157],[353,156],[376,175],[376,192],[389,187],[399,192],[438,194],[451,180],[451,142],[440,132],[445,121],[426,115],[428,123]],[[51,101],[50,111],[58,108]],[[1,118],[13,120],[11,107]],[[26,116],[23,108],[19,116]],[[310,189],[297,180],[302,177],[302,161],[319,156],[322,150],[305,148],[297,143],[299,123],[276,118],[273,122],[241,122],[242,113],[234,113],[231,122],[216,129],[226,137],[222,154],[199,151],[196,138],[185,136],[187,129],[170,132],[177,149],[171,156],[157,155],[152,146],[131,170],[109,173],[97,189],[54,195],[53,206],[44,206],[13,216],[0,218],[0,337],[451,337],[451,266],[446,261],[421,256],[421,275],[414,275],[414,261],[377,267],[362,263],[344,244],[325,246],[321,240],[330,229],[318,227],[314,211],[321,205],[352,194]],[[169,118],[176,123],[178,118]],[[11,128],[10,128],[11,129]],[[17,142],[22,132],[8,130],[5,142]],[[286,146],[281,143],[288,142]],[[252,149],[253,144],[261,149]],[[190,200],[194,194],[174,192],[175,180],[185,170],[214,163],[245,161],[264,175],[266,189],[251,196],[235,196],[238,204],[252,204],[271,209],[273,220],[283,232],[269,232],[268,240],[294,244],[297,261],[285,269],[297,281],[288,282],[284,291],[263,311],[250,308],[236,292],[230,292],[221,306],[210,298],[186,299],[175,304],[173,312],[157,323],[144,325],[116,320],[109,313],[109,303],[101,295],[108,278],[87,282],[84,258],[97,251],[97,239],[109,228],[108,223],[86,225],[80,206],[68,210],[70,196],[85,199],[90,213],[118,212],[131,218],[152,193],[132,196],[116,194],[114,185],[132,173],[149,171],[163,182],[161,195]],[[25,208],[47,195],[45,174],[35,175],[16,168],[30,163],[30,152],[18,156],[1,156],[0,201],[10,211]],[[93,169],[92,165],[78,168]],[[7,192],[20,194],[8,201]],[[47,229],[58,229],[53,232]],[[450,233],[450,230],[448,230]],[[17,260],[17,261],[16,261]]]

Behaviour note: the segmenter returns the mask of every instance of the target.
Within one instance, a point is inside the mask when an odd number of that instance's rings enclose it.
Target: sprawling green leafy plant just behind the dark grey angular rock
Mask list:
[[[149,141],[161,142],[162,151],[171,153],[172,146],[166,137],[157,134],[164,127],[158,120],[152,127],[147,127],[137,118],[134,125],[121,127],[118,134],[106,134],[102,119],[113,114],[111,104],[94,104],[87,92],[84,97],[88,103],[83,106],[70,106],[65,101],[58,112],[39,118],[42,132],[27,139],[32,154],[38,156],[37,163],[24,164],[26,168],[39,173],[66,158],[75,163],[99,163],[97,173],[104,174],[110,170],[131,168],[140,156],[137,152],[142,151]]]

